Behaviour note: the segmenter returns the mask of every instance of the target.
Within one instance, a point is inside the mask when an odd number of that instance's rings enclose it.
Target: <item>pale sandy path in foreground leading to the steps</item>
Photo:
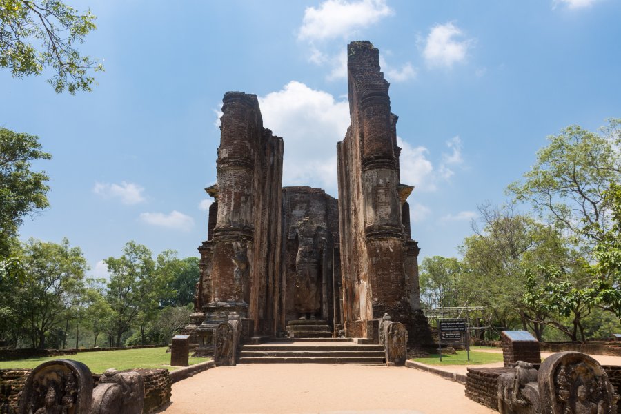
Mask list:
[[[165,412],[496,413],[467,399],[463,385],[437,375],[354,364],[219,366],[173,384]]]

